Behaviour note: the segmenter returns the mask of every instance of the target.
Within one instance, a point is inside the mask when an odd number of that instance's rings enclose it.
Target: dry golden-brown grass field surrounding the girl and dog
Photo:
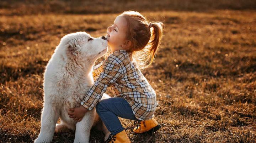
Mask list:
[[[126,10],[165,24],[161,49],[143,72],[157,93],[162,128],[135,135],[133,122],[121,119],[131,141],[256,142],[255,0],[0,3],[0,143],[37,138],[43,71],[60,39],[77,31],[105,35]],[[55,133],[53,142],[74,136]],[[102,141],[92,129],[90,142]]]

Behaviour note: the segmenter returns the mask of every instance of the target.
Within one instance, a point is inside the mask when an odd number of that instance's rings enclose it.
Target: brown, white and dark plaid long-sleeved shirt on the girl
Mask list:
[[[105,61],[93,67],[96,80],[89,88],[81,105],[91,110],[101,99],[107,87],[115,97],[124,98],[139,120],[153,118],[156,109],[156,93],[132,60],[132,52],[117,50]]]

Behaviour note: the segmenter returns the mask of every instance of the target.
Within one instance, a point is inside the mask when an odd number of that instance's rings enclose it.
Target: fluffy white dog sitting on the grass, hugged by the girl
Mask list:
[[[34,143],[51,142],[54,131],[67,129],[76,130],[75,143],[89,143],[91,127],[96,124],[101,126],[107,137],[109,132],[95,108],[88,111],[80,122],[68,115],[68,109],[78,107],[94,84],[92,68],[106,52],[107,40],[104,36],[92,38],[86,32],[76,32],[60,40],[44,73],[41,131]],[[104,93],[104,98],[109,96]],[[56,124],[59,117],[61,122]]]

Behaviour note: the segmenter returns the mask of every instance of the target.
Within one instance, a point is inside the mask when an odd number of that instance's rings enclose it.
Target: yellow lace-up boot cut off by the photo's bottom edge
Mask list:
[[[105,143],[130,143],[130,139],[126,134],[126,131],[117,133],[116,135],[111,135],[105,141]]]

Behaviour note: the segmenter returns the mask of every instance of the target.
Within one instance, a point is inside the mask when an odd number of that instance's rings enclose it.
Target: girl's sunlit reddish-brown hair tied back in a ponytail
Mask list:
[[[125,11],[121,16],[127,20],[126,39],[132,42],[128,51],[133,53],[133,59],[139,69],[148,68],[159,50],[164,23],[148,22],[147,18],[137,11]]]

